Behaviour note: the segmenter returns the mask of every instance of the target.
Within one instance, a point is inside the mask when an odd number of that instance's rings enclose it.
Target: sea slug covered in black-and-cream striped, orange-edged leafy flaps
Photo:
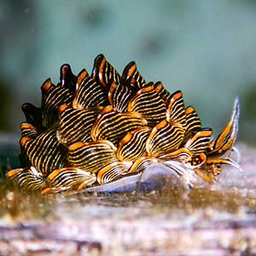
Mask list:
[[[211,182],[231,159],[238,131],[239,101],[218,137],[203,128],[195,108],[185,108],[180,90],[146,83],[131,61],[120,75],[98,55],[91,75],[67,64],[61,79],[47,79],[37,108],[25,103],[21,123],[22,167],[7,173],[26,190],[43,194],[101,188],[143,172],[166,170],[193,185]],[[172,171],[172,172],[171,172]],[[170,175],[171,175],[170,174]],[[192,182],[193,180],[193,182]],[[111,188],[111,186],[110,186]]]

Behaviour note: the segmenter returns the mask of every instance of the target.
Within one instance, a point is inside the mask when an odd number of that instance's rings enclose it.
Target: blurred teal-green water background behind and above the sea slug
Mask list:
[[[217,134],[241,100],[240,141],[256,143],[256,1],[0,1],[0,131],[19,138],[20,106],[40,106],[40,86],[91,70],[99,53],[121,73],[183,90]]]

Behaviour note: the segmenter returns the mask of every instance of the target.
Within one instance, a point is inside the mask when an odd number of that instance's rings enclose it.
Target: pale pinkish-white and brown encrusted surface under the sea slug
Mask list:
[[[228,183],[125,195],[1,195],[0,255],[256,255],[256,150]]]

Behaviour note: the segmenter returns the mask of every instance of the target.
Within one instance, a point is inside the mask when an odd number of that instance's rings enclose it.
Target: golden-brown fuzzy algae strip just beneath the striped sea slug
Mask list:
[[[188,215],[207,208],[235,214],[241,207],[255,212],[256,195],[240,189],[163,189],[151,193],[41,195],[22,191],[7,179],[0,180],[0,221],[3,222],[40,219],[50,221],[61,218],[60,214],[55,212],[56,208],[61,208],[61,212],[68,215],[74,208],[80,211],[84,207],[99,206],[105,207],[106,210],[114,207],[117,211],[119,208],[134,207],[139,211],[146,208],[154,214],[183,211]]]

